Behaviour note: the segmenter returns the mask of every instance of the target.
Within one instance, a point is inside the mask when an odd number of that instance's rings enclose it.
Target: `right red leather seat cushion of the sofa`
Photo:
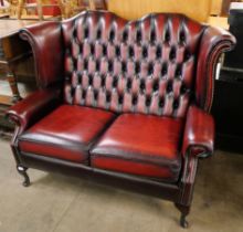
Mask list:
[[[91,150],[98,169],[178,180],[183,120],[140,114],[120,115]]]

